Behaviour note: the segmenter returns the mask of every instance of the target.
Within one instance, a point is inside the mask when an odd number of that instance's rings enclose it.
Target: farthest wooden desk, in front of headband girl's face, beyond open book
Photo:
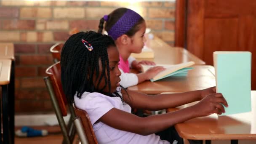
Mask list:
[[[194,61],[197,65],[205,64],[204,61],[189,53],[185,48],[171,47],[158,37],[153,40],[147,39],[147,47],[152,48],[155,53],[154,59],[137,59],[150,60],[157,64],[180,64],[183,62]]]

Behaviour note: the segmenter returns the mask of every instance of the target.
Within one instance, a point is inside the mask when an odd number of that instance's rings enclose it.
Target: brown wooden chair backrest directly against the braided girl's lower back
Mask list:
[[[90,117],[87,112],[85,110],[78,109],[77,107],[75,107],[75,104],[73,104],[73,108],[75,110],[76,116],[80,117],[82,121],[83,128],[89,144],[98,144],[98,141],[93,131],[93,126],[91,125]]]

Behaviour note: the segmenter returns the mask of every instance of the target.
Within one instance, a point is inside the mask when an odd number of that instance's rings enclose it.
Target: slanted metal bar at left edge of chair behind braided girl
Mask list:
[[[53,108],[55,110],[56,117],[57,117],[59,125],[61,127],[62,135],[63,135],[63,138],[64,138],[64,143],[65,144],[72,144],[71,141],[70,141],[70,138],[69,138],[69,134],[68,134],[68,131],[67,131],[65,121],[64,121],[64,119],[62,117],[62,114],[61,114],[61,110],[59,109],[59,103],[58,103],[58,101],[56,99],[56,96],[55,96],[55,93],[53,91],[53,86],[51,84],[50,77],[44,77],[44,81],[45,81],[46,87],[48,88],[48,91],[49,91],[49,94],[50,94],[50,97],[51,97],[51,102],[53,104]]]

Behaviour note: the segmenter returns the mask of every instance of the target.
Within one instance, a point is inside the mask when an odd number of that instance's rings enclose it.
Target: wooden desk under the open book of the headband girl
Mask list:
[[[160,94],[163,92],[186,92],[201,90],[215,86],[213,75],[214,67],[208,65],[195,65],[189,70],[187,77],[167,77],[151,82],[149,80],[128,88],[146,94]]]

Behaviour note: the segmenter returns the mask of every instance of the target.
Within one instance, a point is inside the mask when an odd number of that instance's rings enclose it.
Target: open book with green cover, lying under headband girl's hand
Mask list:
[[[154,82],[156,80],[161,80],[165,77],[170,77],[170,76],[187,76],[187,71],[191,68],[190,66],[194,65],[194,61],[189,61],[186,63],[181,63],[181,64],[157,64],[157,65],[141,65],[142,66],[142,72],[147,71],[151,67],[156,67],[156,66],[162,66],[165,67],[165,70],[157,74],[155,77],[153,77],[150,81]]]

